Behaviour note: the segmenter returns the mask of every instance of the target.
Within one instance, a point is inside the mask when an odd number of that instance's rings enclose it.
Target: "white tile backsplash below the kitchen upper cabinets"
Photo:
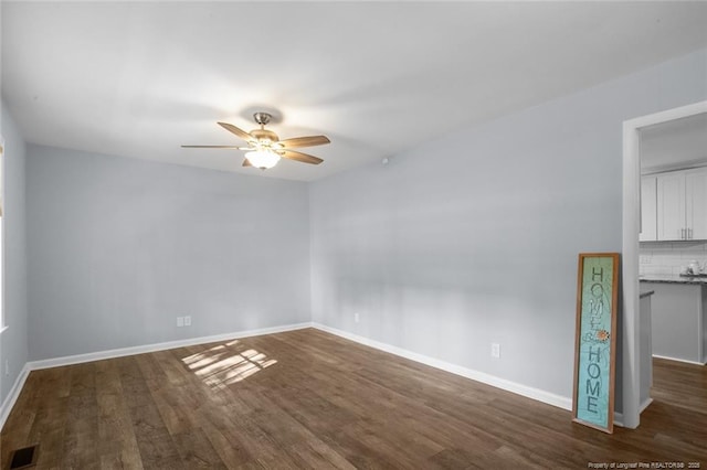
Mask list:
[[[641,242],[639,274],[678,275],[690,260],[700,266],[707,263],[707,241],[696,242]]]

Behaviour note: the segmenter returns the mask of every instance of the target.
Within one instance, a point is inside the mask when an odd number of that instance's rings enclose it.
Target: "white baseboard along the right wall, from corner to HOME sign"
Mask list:
[[[476,382],[482,382],[484,384],[494,386],[496,388],[502,388],[507,392],[513,392],[517,395],[521,395],[527,398],[532,398],[538,402],[557,406],[562,409],[568,409],[568,410],[572,409],[572,399],[564,396],[556,395],[553,393],[541,391],[539,388],[529,387],[527,385],[518,384],[516,382],[507,381],[505,378],[499,378],[494,375],[486,374],[484,372],[478,372],[472,368],[462,367],[461,365],[452,364],[445,361],[440,361],[437,359],[430,357],[424,354],[419,354],[402,348],[398,348],[398,346],[393,346],[376,340],[371,340],[369,338],[359,337],[358,334],[349,333],[348,331],[342,331],[336,328],[327,327],[326,324],[314,322],[313,327],[318,330],[326,331],[327,333],[336,334],[337,337],[341,337],[347,340],[351,340],[370,348],[376,348],[377,350],[381,350],[391,354],[399,355],[401,357],[420,362],[422,364],[426,364],[432,367],[440,368],[442,371],[451,372],[452,374],[461,375],[463,377],[471,378]]]

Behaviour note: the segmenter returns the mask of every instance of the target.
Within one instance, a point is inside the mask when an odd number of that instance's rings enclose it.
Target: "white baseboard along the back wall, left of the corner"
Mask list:
[[[104,359],[123,357],[126,355],[144,354],[148,352],[172,350],[175,348],[193,346],[197,344],[214,343],[218,341],[238,340],[240,338],[260,337],[262,334],[282,333],[285,331],[302,330],[303,328],[312,328],[312,323],[295,323],[284,327],[261,328],[256,330],[236,331],[232,333],[214,334],[212,337],[189,338],[187,340],[167,341],[165,343],[146,344],[143,346],[120,348],[117,350],[97,351],[86,354],[67,355],[64,357],[46,359],[42,361],[32,361],[28,365],[30,371],[40,368],[59,367],[62,365],[81,364],[84,362],[101,361]]]

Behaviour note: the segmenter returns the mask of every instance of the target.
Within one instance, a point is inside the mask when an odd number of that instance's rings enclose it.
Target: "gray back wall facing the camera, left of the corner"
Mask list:
[[[31,360],[310,320],[305,183],[33,145],[27,178]]]

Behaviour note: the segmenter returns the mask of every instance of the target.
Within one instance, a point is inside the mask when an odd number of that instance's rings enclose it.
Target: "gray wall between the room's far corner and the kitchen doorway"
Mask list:
[[[706,50],[313,183],[314,321],[570,397],[578,254],[622,248],[622,121],[703,99]]]

